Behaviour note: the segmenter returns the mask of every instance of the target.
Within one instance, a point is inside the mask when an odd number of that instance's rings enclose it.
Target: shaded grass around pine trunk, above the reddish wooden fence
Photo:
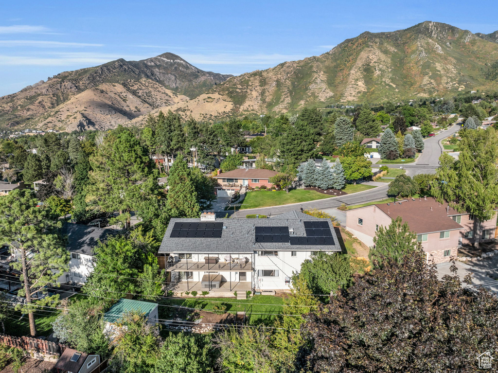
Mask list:
[[[36,324],[36,333],[39,336],[48,337],[52,333],[52,323],[55,321],[60,312],[43,312],[35,311],[34,322]],[[22,337],[29,336],[28,315],[22,315],[19,311],[8,315],[5,323],[5,333],[11,336]]]

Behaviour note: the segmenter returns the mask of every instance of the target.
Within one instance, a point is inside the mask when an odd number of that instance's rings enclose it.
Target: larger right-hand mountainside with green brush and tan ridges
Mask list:
[[[495,34],[490,35],[482,38],[431,21],[393,32],[364,32],[320,56],[231,78],[171,109],[209,119],[492,88],[496,83],[485,73],[498,60],[498,45],[488,40]]]

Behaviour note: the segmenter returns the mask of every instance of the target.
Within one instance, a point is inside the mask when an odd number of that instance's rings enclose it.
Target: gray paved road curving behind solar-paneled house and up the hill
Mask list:
[[[416,162],[403,165],[403,167],[406,169],[406,174],[413,176],[421,173],[435,173],[436,168],[439,166],[439,157],[442,152],[442,146],[439,144],[439,141],[457,132],[460,128],[461,127],[459,124],[455,124],[452,127],[437,134],[436,136],[426,139],[424,141],[425,143],[424,151],[418,157]],[[392,164],[389,165],[389,167],[399,167],[399,166],[401,165],[392,165]],[[346,205],[358,205],[365,202],[385,199],[387,198],[387,188],[388,184],[386,183],[385,185],[378,186],[373,189],[350,194],[343,197],[327,198],[318,201],[296,203],[291,205],[241,210],[233,214],[232,217],[242,218],[248,214],[260,214],[260,215],[271,216],[271,215],[282,214],[287,211],[299,210],[301,208],[303,209],[317,208],[319,210],[337,209],[343,203]]]

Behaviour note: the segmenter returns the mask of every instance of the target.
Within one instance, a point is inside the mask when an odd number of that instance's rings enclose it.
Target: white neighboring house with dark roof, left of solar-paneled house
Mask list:
[[[66,223],[62,228],[62,234],[67,235],[66,248],[70,252],[71,258],[69,260],[69,272],[59,277],[59,282],[85,283],[94,268],[94,249],[99,242],[103,242],[108,236],[114,235],[114,231]]]

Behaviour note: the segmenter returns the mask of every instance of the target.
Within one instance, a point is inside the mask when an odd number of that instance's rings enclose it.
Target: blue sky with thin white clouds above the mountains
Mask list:
[[[0,96],[62,71],[176,53],[242,74],[425,20],[498,29],[498,1],[2,1]]]

